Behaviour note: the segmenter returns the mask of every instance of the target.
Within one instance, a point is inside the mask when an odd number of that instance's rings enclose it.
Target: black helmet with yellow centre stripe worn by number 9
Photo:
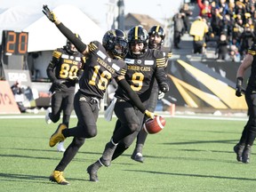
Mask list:
[[[128,43],[129,43],[129,51],[130,54],[133,56],[140,56],[142,54],[144,54],[144,52],[147,52],[148,49],[148,32],[146,29],[144,29],[142,26],[134,26],[132,28],[130,28],[130,30],[128,31]],[[135,43],[143,43],[144,47],[142,49],[142,51],[140,52],[140,55],[138,54],[133,54],[132,53],[132,44]]]

